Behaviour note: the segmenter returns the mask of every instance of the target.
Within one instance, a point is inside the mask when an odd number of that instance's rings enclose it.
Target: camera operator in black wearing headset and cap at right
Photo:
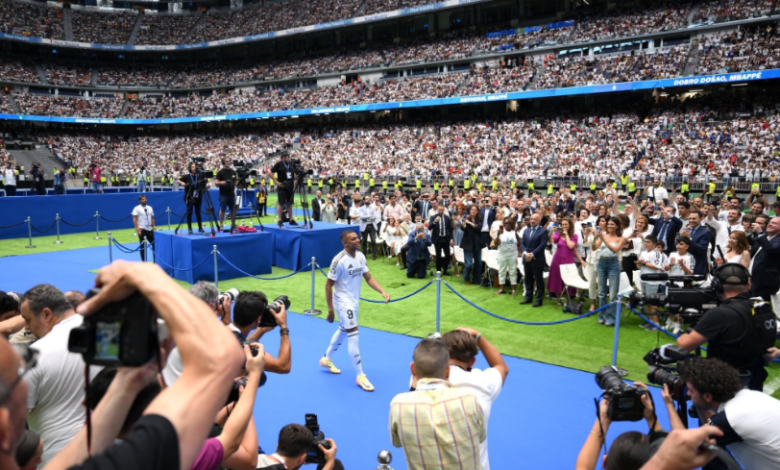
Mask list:
[[[712,276],[722,303],[677,338],[677,346],[693,351],[708,343],[708,357],[749,373],[749,388],[761,391],[767,378],[764,355],[774,346],[777,334],[774,312],[762,299],[750,297],[750,276],[741,264],[724,264]]]

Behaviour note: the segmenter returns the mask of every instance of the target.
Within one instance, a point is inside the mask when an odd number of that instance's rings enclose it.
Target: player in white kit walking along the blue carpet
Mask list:
[[[357,313],[360,305],[360,287],[363,279],[375,291],[382,294],[385,303],[390,301],[390,295],[382,289],[376,279],[371,277],[366,264],[366,257],[360,252],[360,237],[354,230],[341,232],[341,243],[344,250],[333,258],[325,283],[325,298],[328,300],[328,323],[333,323],[334,310],[339,314],[339,329],[330,340],[330,346],[320,359],[320,365],[327,368],[331,374],[341,371],[333,365],[333,353],[341,346],[346,337],[349,355],[357,373],[357,384],[367,392],[373,392],[374,386],[363,373],[358,349]],[[335,289],[334,289],[335,287]],[[335,290],[335,292],[334,292]]]

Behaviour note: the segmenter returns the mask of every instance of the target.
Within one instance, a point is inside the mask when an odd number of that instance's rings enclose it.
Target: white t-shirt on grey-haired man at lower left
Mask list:
[[[81,326],[84,317],[73,315],[32,346],[39,351],[38,364],[25,376],[27,423],[43,440],[43,468],[84,426],[84,360],[68,351],[70,331]],[[90,368],[90,379],[100,372]]]

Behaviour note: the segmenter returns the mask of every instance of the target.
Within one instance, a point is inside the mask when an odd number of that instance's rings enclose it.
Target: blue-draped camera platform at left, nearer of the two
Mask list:
[[[155,262],[174,279],[194,284],[197,281],[214,282],[214,245],[222,256],[218,257],[219,280],[270,274],[273,264],[274,234],[269,232],[234,233],[219,232],[212,238],[204,235],[187,235],[173,230],[155,234]],[[235,266],[235,267],[234,267]],[[238,269],[236,269],[238,268]],[[239,269],[241,271],[239,271]]]

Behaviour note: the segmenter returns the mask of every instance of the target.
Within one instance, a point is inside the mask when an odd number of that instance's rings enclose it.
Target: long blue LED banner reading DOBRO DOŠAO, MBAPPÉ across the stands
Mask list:
[[[198,116],[170,119],[104,119],[104,118],[72,118],[54,116],[27,116],[20,114],[0,114],[0,120],[63,122],[73,124],[180,124],[191,122],[241,121],[245,119],[267,119],[280,117],[298,117],[317,114],[357,113],[365,111],[384,111],[393,109],[424,108],[432,106],[451,106],[458,104],[491,103],[510,100],[528,100],[535,98],[550,98],[556,96],[577,96],[598,93],[614,93],[621,91],[655,90],[659,88],[677,88],[690,86],[722,85],[728,83],[744,83],[758,80],[780,78],[780,69],[761,70],[755,72],[725,73],[717,75],[702,75],[699,77],[669,78],[649,80],[645,82],[627,82],[606,85],[588,85],[571,88],[551,88],[548,90],[515,91],[495,93],[491,95],[458,96],[453,98],[437,98],[431,100],[401,101],[393,103],[372,103],[354,106],[337,106],[330,108],[294,109],[288,111],[268,111],[259,113],[225,114],[219,116]]]

